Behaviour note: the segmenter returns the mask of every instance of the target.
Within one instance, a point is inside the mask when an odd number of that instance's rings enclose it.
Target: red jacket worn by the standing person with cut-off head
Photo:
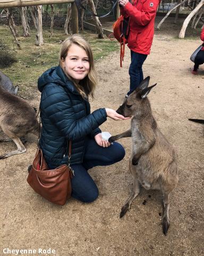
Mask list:
[[[130,17],[128,47],[133,52],[149,54],[154,37],[154,23],[159,0],[135,0],[121,7],[121,14]]]

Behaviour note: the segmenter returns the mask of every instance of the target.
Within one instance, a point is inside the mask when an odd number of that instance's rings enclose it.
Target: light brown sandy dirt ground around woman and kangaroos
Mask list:
[[[163,25],[165,28],[165,24]],[[167,28],[167,26],[166,26]],[[165,31],[164,31],[165,30]],[[143,65],[144,76],[157,86],[149,94],[152,111],[166,138],[173,144],[179,166],[179,185],[171,194],[168,235],[162,233],[163,212],[159,191],[141,190],[131,209],[120,219],[121,206],[132,186],[128,171],[131,139],[121,139],[126,150],[123,161],[95,167],[91,176],[99,198],[91,203],[71,199],[64,206],[49,203],[33,192],[27,166],[36,152],[37,139],[29,135],[27,152],[0,162],[1,168],[1,252],[9,249],[51,248],[55,254],[19,255],[203,255],[204,151],[203,126],[188,118],[203,118],[204,66],[192,75],[189,57],[200,45],[198,39],[175,39],[170,29],[156,31],[151,54]],[[96,62],[99,86],[92,110],[117,109],[129,87],[130,52],[126,48],[123,68],[119,53]],[[42,70],[43,72],[43,70]],[[40,94],[29,102],[38,107]],[[113,135],[128,130],[130,121],[108,119],[101,129]],[[3,136],[3,134],[0,134]],[[2,143],[0,154],[14,149]],[[151,197],[149,197],[151,195]],[[147,203],[142,204],[146,200]],[[14,254],[12,254],[14,255]]]

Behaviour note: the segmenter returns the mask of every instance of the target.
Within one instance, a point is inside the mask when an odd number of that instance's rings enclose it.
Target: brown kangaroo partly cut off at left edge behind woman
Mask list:
[[[2,86],[0,86],[0,126],[18,147],[14,151],[0,155],[0,159],[24,153],[26,148],[20,138],[27,133],[38,135],[39,131],[39,123],[33,107],[24,99],[4,90]],[[2,139],[0,142],[11,139]]]

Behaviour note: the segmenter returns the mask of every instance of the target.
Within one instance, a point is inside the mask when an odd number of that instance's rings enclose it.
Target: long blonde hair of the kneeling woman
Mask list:
[[[72,44],[76,44],[80,46],[83,50],[85,50],[89,58],[88,75],[84,77],[79,82],[79,84],[76,83],[74,79],[67,74],[66,69],[62,65],[63,60],[65,60],[67,53],[70,49],[70,46]],[[82,95],[83,98],[87,98],[89,95],[91,95],[91,97],[94,98],[94,91],[97,85],[97,74],[94,67],[94,57],[93,57],[93,53],[91,51],[91,47],[89,43],[82,36],[78,34],[74,34],[66,38],[65,41],[62,43],[62,46],[60,49],[60,66],[63,69],[66,76],[74,83],[76,89]]]

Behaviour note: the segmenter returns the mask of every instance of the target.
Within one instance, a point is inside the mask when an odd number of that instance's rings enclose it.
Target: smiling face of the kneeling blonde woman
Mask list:
[[[72,44],[67,52],[65,60],[62,60],[67,75],[79,83],[89,73],[89,58],[87,52],[80,46]]]

